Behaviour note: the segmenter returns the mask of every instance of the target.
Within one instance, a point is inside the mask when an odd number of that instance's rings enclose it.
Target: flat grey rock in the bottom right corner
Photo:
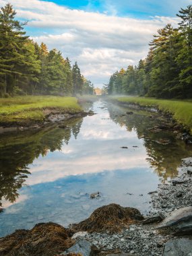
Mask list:
[[[170,240],[164,245],[162,256],[192,256],[192,241],[187,238]]]

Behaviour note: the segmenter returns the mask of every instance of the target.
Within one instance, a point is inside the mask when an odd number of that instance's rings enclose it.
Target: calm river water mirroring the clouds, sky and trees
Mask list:
[[[101,100],[90,109],[97,115],[68,121],[68,129],[1,135],[0,236],[38,222],[67,226],[108,203],[145,214],[148,192],[177,176],[181,158],[192,154],[173,133],[148,130],[161,122],[156,113],[122,115],[129,109]],[[156,143],[160,138],[171,143]],[[90,199],[97,191],[101,197]]]

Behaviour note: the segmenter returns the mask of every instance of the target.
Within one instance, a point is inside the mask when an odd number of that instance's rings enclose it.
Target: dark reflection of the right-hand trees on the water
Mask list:
[[[133,110],[133,115],[125,114],[130,109],[125,107],[116,107],[113,104],[108,105],[110,118],[121,127],[126,127],[127,131],[135,131],[138,138],[143,139],[143,146],[146,148],[148,157],[146,160],[158,174],[162,182],[170,178],[177,177],[178,167],[181,159],[191,156],[192,146],[187,145],[172,131],[152,132],[154,125],[162,123],[161,117],[157,113],[150,113],[141,110]],[[156,141],[166,139],[170,141],[168,145],[162,145]]]

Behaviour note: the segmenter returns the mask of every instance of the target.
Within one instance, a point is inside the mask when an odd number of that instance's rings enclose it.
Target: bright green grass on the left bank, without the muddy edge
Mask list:
[[[0,123],[27,123],[43,121],[46,110],[77,113],[82,108],[74,97],[21,96],[0,98]]]

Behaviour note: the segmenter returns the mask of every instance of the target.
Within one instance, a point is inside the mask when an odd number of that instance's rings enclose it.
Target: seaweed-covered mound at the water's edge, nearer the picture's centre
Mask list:
[[[104,205],[96,209],[91,216],[73,224],[72,230],[88,232],[119,232],[122,228],[129,227],[130,224],[143,220],[139,210],[131,207],[122,207],[115,203]]]

